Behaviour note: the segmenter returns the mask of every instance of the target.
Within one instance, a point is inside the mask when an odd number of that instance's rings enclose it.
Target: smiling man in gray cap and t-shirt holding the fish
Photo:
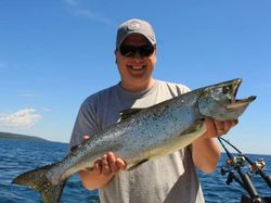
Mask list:
[[[153,78],[156,38],[145,21],[129,20],[119,26],[115,55],[120,83],[82,103],[70,147],[115,124],[124,110],[147,107],[190,91],[183,85]],[[234,125],[236,120],[206,117],[207,131],[180,151],[132,170],[125,170],[125,160],[108,152],[94,163],[92,172],[86,169],[78,175],[87,189],[99,189],[101,202],[204,202],[194,166],[205,173],[215,170],[220,154],[215,137],[227,134]]]

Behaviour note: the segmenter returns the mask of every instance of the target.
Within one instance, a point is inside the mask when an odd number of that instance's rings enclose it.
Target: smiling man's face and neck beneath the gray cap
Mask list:
[[[122,46],[142,48],[150,46],[150,42],[142,35],[134,34],[128,36],[120,48]],[[152,73],[156,64],[156,50],[149,56],[143,56],[139,52],[136,52],[132,56],[126,56],[122,55],[119,50],[116,51],[115,54],[122,88],[129,91],[141,91],[153,85],[154,79]]]

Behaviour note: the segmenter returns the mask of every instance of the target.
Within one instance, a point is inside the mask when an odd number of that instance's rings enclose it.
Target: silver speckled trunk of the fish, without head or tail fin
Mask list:
[[[197,104],[194,94],[144,109],[92,136],[55,167],[55,172],[62,168],[61,179],[65,179],[92,166],[95,160],[108,151],[124,158],[128,164],[127,168],[130,168],[142,161],[184,148],[205,131],[203,116],[195,111]],[[52,172],[49,178],[57,182],[60,177]]]

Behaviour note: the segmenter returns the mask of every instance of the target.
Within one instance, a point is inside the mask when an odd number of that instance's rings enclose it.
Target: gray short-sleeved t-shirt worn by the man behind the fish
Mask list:
[[[190,91],[182,85],[155,80],[142,92],[128,92],[120,85],[99,91],[82,103],[70,138],[70,148],[82,136],[94,135],[119,119],[119,112],[147,107]],[[102,203],[202,203],[201,185],[189,148],[120,172],[99,190]]]

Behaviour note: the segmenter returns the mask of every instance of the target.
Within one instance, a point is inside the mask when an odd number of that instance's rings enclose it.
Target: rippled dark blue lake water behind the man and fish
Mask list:
[[[66,151],[66,143],[0,139],[0,203],[41,202],[38,192],[26,187],[11,185],[11,181],[26,170],[60,161],[65,156]],[[270,155],[250,154],[248,156],[251,160],[264,158],[267,163],[266,173],[271,175]],[[241,194],[247,194],[236,182],[232,182],[230,186],[225,185],[228,176],[220,174],[220,168],[224,164],[225,158],[225,154],[223,154],[217,170],[211,175],[198,172],[207,203],[240,202]],[[259,176],[253,177],[251,180],[260,195],[271,195],[271,189]],[[61,202],[99,202],[98,192],[86,190],[82,188],[78,177],[73,176],[64,189]]]

